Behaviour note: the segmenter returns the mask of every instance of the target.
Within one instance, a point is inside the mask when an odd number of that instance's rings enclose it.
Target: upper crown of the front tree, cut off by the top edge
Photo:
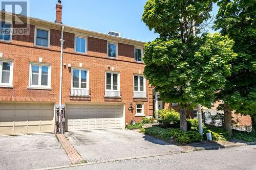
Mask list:
[[[150,30],[154,29],[160,36],[176,36],[182,32],[182,19],[191,25],[196,25],[209,19],[212,10],[211,0],[176,1],[176,0],[148,0],[144,6],[142,20]],[[182,22],[182,23],[181,23]],[[190,27],[184,27],[187,33]],[[184,32],[185,32],[184,30]]]

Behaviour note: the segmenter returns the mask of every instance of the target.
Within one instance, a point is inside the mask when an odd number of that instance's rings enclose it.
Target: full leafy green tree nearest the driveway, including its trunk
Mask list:
[[[219,34],[196,37],[210,18],[210,0],[149,0],[142,20],[160,37],[145,45],[144,75],[165,102],[179,103],[180,128],[186,131],[186,108],[210,106],[230,74],[233,41]]]

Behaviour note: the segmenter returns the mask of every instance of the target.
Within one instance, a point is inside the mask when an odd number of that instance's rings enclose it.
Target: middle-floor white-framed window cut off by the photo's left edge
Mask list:
[[[12,86],[13,62],[0,61],[0,86]]]

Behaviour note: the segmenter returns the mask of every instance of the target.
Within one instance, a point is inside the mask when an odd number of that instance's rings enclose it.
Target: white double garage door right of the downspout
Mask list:
[[[67,105],[66,131],[122,128],[122,105]]]

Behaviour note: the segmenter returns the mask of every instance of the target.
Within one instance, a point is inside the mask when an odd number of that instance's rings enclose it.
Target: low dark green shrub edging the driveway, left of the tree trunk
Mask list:
[[[169,130],[168,129],[164,129],[164,128],[160,128],[160,127],[157,127],[157,126],[146,128],[145,129],[145,134],[153,136],[153,137],[155,137],[157,139],[165,140],[165,141],[169,141],[170,140]]]

